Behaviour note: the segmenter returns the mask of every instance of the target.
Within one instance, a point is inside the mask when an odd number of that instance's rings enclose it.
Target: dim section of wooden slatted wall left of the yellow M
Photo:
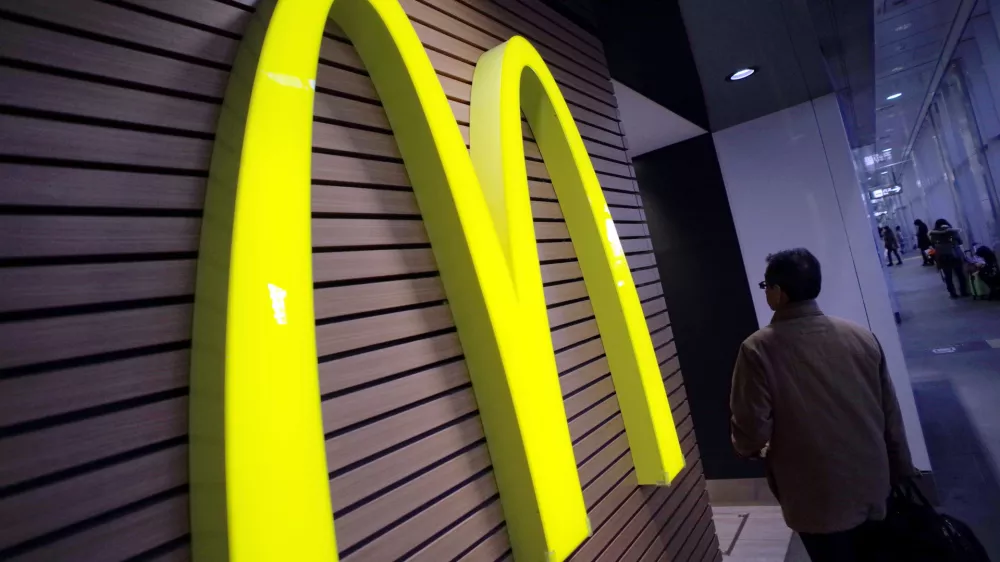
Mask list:
[[[200,214],[252,11],[155,5],[0,9],[3,560],[190,559]]]

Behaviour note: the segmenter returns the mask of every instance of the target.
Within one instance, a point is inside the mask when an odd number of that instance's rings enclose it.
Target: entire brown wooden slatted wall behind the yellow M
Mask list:
[[[573,248],[525,127],[557,363],[594,536],[574,560],[716,560],[669,317],[600,43],[538,0],[402,0],[463,132],[473,65],[539,49],[628,252],[688,468],[636,485]],[[252,0],[0,1],[0,559],[188,560],[187,377],[200,210]],[[317,343],[344,560],[510,545],[462,349],[378,96],[324,38]]]

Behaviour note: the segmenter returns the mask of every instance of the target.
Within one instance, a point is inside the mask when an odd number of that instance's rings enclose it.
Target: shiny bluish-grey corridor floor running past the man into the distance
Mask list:
[[[949,299],[919,260],[890,277],[941,510],[1000,560],[1000,301]]]

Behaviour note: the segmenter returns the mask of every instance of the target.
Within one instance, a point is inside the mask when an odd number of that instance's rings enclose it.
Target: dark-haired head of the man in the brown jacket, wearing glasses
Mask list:
[[[789,304],[813,300],[823,285],[819,260],[805,248],[782,250],[767,256],[761,288],[767,305],[778,310]]]

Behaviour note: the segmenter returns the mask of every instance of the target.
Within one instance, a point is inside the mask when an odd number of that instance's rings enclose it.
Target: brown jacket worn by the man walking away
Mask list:
[[[884,519],[890,478],[912,473],[878,340],[815,301],[782,309],[743,342],[730,407],[739,454],[769,444],[768,484],[795,531]]]

